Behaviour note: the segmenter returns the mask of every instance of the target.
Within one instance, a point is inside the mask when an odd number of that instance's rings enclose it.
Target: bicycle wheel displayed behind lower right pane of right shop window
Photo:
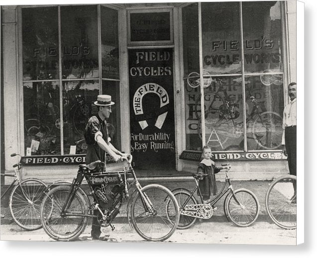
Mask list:
[[[274,124],[272,123],[272,121],[274,121]],[[252,126],[252,137],[256,141],[256,143],[263,149],[277,149],[282,145],[282,125],[283,120],[278,113],[272,111],[260,113],[254,120]]]

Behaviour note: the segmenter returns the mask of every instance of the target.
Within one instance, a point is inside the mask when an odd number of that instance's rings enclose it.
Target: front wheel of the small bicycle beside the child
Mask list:
[[[238,205],[235,198],[240,202]],[[225,208],[229,220],[236,226],[248,227],[259,216],[259,201],[248,189],[240,188],[229,193],[225,199]]]

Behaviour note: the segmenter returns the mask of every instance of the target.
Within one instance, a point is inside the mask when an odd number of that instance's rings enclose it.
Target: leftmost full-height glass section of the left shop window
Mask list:
[[[22,8],[25,155],[60,154],[58,8]]]

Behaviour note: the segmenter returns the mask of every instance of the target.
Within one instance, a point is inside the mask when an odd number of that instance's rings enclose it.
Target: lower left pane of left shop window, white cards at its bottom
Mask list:
[[[60,154],[59,83],[24,83],[23,103],[25,155]]]

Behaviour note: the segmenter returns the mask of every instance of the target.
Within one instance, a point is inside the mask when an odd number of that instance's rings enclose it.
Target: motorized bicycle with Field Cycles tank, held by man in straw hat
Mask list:
[[[164,241],[176,230],[179,222],[179,207],[172,192],[159,184],[140,185],[131,166],[132,156],[127,156],[127,166],[117,172],[103,172],[105,164],[97,161],[80,165],[77,177],[71,185],[55,186],[45,193],[41,204],[41,223],[44,231],[58,241],[72,241],[84,231],[88,218],[97,218],[101,226],[115,227],[111,224],[124,199],[127,201],[129,225],[147,241]],[[133,176],[128,182],[127,177]],[[86,179],[90,194],[81,188]],[[114,186],[109,191],[111,182]],[[134,185],[131,195],[128,190]],[[165,196],[170,200],[170,216],[167,218],[164,206]],[[98,215],[93,211],[98,210]]]

